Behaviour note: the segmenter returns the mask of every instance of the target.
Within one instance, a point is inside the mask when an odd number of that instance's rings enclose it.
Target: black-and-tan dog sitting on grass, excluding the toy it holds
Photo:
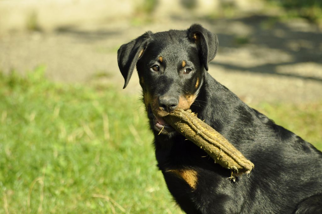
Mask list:
[[[214,80],[206,71],[217,48],[216,35],[194,24],[147,32],[118,50],[124,88],[137,66],[156,160],[174,199],[186,213],[322,213],[322,153]],[[230,170],[162,119],[178,108],[197,113],[252,161],[251,175],[227,179]]]

